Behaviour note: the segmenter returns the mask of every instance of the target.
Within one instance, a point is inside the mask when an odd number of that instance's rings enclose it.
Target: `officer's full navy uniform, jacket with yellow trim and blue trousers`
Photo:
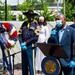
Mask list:
[[[39,25],[36,20],[29,23],[24,22],[20,28],[19,41],[20,43],[26,42],[27,50],[22,51],[22,74],[28,75],[28,67],[30,75],[34,75],[33,67],[33,53],[32,46],[35,47],[35,42],[38,40]],[[35,50],[35,49],[34,49]]]

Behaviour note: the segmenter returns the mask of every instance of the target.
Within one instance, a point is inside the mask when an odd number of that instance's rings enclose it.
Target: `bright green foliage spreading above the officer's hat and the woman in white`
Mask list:
[[[27,0],[22,4],[18,4],[17,10],[23,12],[29,9],[35,9],[40,15],[44,16],[47,21],[54,20],[54,16],[50,16],[52,14],[52,11],[48,10],[51,1],[54,2],[54,0]],[[19,18],[21,18],[21,15]]]

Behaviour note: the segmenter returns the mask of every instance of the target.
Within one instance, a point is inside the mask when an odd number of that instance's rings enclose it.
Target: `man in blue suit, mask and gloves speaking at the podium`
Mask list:
[[[75,29],[66,24],[66,17],[63,14],[56,16],[56,28],[51,31],[48,43],[61,44],[68,58],[59,58],[61,72],[59,75],[73,75],[75,67],[75,54],[73,53],[73,43],[75,42]]]

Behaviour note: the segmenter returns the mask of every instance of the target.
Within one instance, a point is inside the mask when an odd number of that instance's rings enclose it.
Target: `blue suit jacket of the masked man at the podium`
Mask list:
[[[67,26],[64,33],[63,37],[61,39],[61,46],[68,55],[68,58],[60,58],[60,62],[63,67],[68,66],[68,63],[73,60],[75,61],[75,53],[73,53],[73,43],[75,42],[75,29]],[[59,36],[58,36],[58,31],[56,32],[54,37],[50,37],[48,39],[48,43],[54,43],[54,44],[59,44]],[[61,52],[60,52],[61,53]]]

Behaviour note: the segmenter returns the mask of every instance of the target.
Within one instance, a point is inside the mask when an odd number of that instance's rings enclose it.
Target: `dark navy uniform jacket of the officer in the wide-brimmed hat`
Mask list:
[[[28,27],[29,24],[29,27]],[[38,34],[35,32],[39,28],[38,22],[24,22],[20,28],[19,42],[26,42],[27,46],[37,42]]]

